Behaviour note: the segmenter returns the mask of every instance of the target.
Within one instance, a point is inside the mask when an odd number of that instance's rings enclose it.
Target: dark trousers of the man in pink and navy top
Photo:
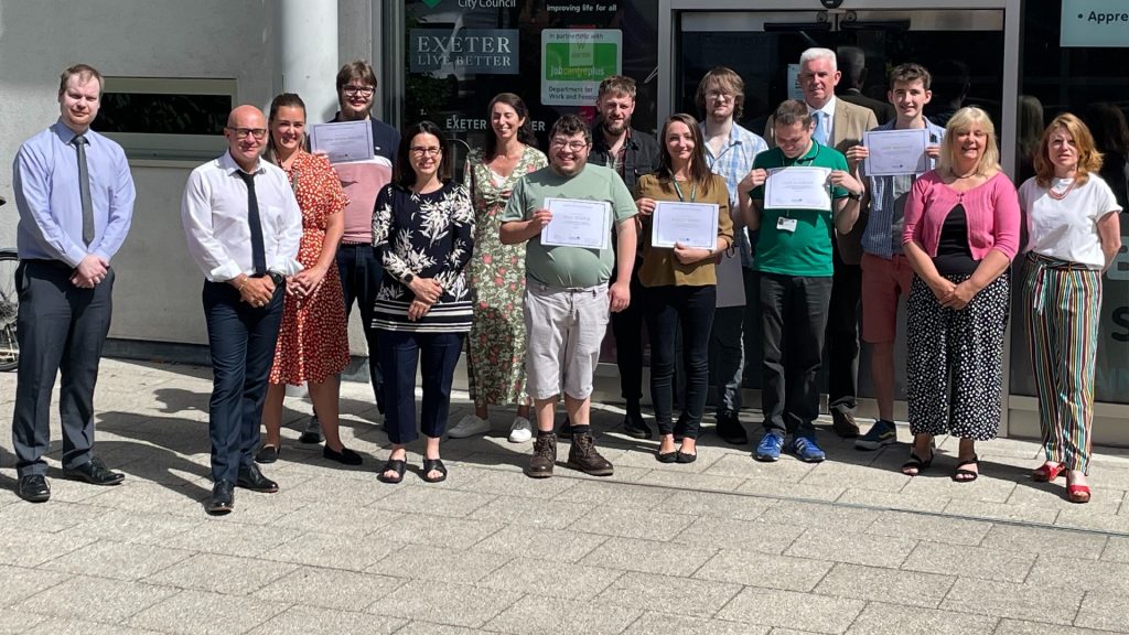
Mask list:
[[[338,247],[338,270],[341,272],[341,293],[345,299],[345,320],[352,313],[353,301],[360,306],[361,327],[368,342],[368,374],[376,395],[376,408],[384,412],[384,392],[380,389],[380,349],[378,332],[373,328],[373,305],[384,278],[384,266],[376,258],[370,244],[344,244]]]

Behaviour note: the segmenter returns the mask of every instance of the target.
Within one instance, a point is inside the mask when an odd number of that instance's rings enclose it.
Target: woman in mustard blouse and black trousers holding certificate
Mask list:
[[[644,307],[650,333],[650,399],[658,423],[658,460],[692,463],[698,458],[697,438],[709,386],[709,333],[717,297],[717,256],[733,244],[729,191],[725,179],[706,164],[704,142],[694,118],[675,114],[663,124],[662,157],[654,174],[639,179],[637,205],[644,237],[639,281],[646,288]],[[655,206],[659,201],[716,205],[717,245],[714,250],[675,243],[651,244]],[[712,217],[704,216],[703,220]],[[674,445],[674,333],[682,325],[686,393],[679,417],[685,429],[681,447]]]

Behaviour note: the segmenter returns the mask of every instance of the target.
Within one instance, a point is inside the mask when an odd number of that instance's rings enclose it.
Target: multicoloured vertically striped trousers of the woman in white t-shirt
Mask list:
[[[1034,252],[1024,270],[1024,321],[1047,460],[1088,472],[1102,273]]]

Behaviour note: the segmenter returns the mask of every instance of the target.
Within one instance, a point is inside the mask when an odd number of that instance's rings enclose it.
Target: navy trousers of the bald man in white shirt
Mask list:
[[[235,482],[251,467],[259,446],[259,425],[266,399],[266,380],[282,322],[286,285],[271,302],[254,307],[239,301],[227,282],[204,282],[204,319],[212,360],[212,395],[208,405],[212,480]]]

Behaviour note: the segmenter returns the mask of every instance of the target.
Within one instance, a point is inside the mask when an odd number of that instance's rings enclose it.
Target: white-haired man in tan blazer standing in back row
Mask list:
[[[835,98],[835,85],[842,78],[830,49],[808,49],[799,56],[799,86],[804,103],[815,118],[814,139],[821,145],[846,154],[847,148],[863,142],[863,133],[878,125],[874,111]],[[774,146],[773,122],[769,118],[764,140]],[[858,166],[851,165],[858,176]],[[863,294],[863,229],[866,210],[859,211],[858,223],[844,236],[835,235],[834,281],[831,288],[831,307],[828,316],[828,403],[837,434],[842,437],[859,435],[855,423],[858,394],[858,313]]]

